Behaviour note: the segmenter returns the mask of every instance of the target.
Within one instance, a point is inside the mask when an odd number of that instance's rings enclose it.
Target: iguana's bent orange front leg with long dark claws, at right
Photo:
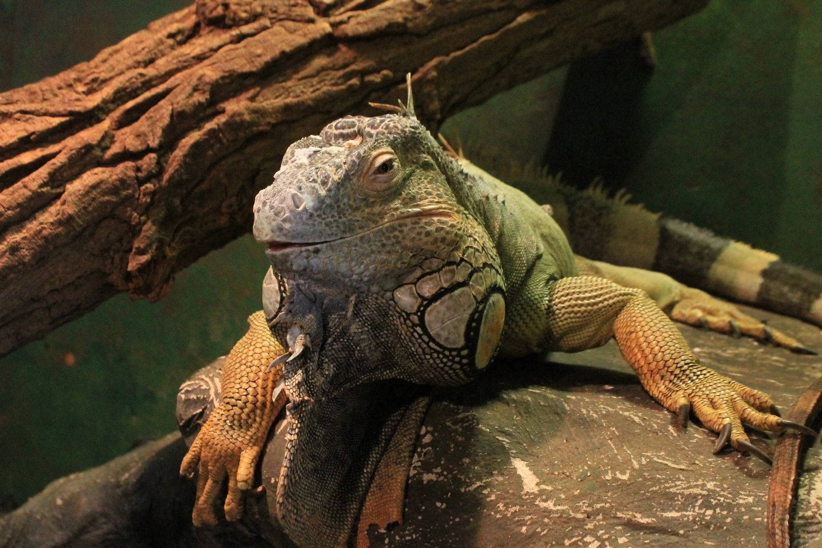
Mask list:
[[[552,349],[582,351],[612,337],[649,394],[685,420],[692,409],[702,424],[720,432],[714,453],[733,448],[769,462],[750,444],[743,423],[758,430],[786,428],[815,434],[770,411],[771,398],[700,365],[677,327],[644,291],[593,276],[548,286],[547,342]]]

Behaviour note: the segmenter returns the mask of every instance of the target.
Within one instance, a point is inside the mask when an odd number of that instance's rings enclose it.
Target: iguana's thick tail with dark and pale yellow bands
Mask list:
[[[817,272],[647,211],[628,203],[626,193],[608,197],[596,182],[580,191],[533,166],[512,168],[494,161],[490,165],[501,168],[495,171],[506,183],[550,204],[575,253],[664,272],[687,286],[822,326],[822,275]]]

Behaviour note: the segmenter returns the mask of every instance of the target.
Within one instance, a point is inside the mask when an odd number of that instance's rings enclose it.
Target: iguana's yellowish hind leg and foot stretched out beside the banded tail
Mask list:
[[[620,286],[644,290],[659,308],[666,310],[677,322],[707,327],[711,331],[733,337],[743,335],[757,341],[773,342],[794,352],[815,354],[800,341],[742,312],[737,305],[717,299],[703,290],[685,286],[667,274],[642,268],[618,267],[580,255],[575,255],[575,258],[580,274],[599,276]]]

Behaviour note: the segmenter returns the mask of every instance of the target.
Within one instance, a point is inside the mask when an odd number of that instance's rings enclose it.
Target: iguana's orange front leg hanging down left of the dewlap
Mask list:
[[[278,387],[282,367],[268,369],[286,350],[271,336],[262,311],[249,316],[248,325],[248,332],[225,362],[222,402],[202,425],[180,467],[180,474],[186,477],[197,471],[192,513],[197,527],[217,522],[215,501],[226,477],[225,517],[235,520],[242,516],[242,490],[251,489],[271,423],[286,402],[284,390]]]

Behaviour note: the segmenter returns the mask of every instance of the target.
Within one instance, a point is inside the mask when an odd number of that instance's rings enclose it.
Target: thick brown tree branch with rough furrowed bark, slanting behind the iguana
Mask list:
[[[286,146],[393,102],[432,127],[707,0],[198,0],[0,94],[0,355],[251,226]],[[538,123],[538,121],[535,121]]]

